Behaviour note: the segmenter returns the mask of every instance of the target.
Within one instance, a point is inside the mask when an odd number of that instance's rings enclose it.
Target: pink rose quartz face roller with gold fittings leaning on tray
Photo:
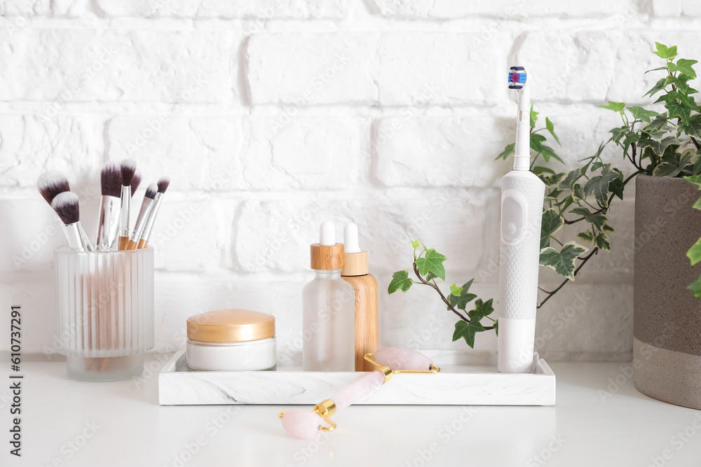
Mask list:
[[[333,431],[336,424],[329,417],[388,382],[393,374],[435,374],[440,371],[440,368],[434,365],[426,355],[396,347],[387,347],[379,349],[374,354],[366,354],[365,360],[375,365],[377,369],[336,392],[331,398],[322,400],[314,406],[313,412],[303,409],[280,412],[278,417],[283,419],[283,428],[287,433],[295,438],[310,440],[318,435],[320,430]],[[319,417],[326,421],[328,426],[321,425]]]

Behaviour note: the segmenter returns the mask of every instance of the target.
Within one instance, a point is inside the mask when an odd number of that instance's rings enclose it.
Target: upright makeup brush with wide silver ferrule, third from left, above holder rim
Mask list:
[[[115,162],[105,162],[100,173],[102,205],[97,221],[97,248],[109,251],[117,239],[119,230],[119,204],[122,191],[122,174]]]

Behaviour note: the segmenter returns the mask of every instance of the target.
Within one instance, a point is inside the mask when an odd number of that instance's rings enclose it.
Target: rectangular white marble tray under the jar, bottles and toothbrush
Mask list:
[[[421,350],[440,366],[436,375],[394,375],[359,404],[386,405],[554,405],[555,375],[542,358],[533,373],[496,370],[493,351]],[[179,351],[158,375],[161,405],[313,405],[360,377],[355,372],[276,370],[207,372],[188,370]]]

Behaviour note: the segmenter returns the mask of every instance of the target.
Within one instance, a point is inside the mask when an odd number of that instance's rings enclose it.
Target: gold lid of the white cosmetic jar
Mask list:
[[[275,316],[250,309],[217,309],[187,319],[187,338],[198,342],[247,342],[275,337]]]

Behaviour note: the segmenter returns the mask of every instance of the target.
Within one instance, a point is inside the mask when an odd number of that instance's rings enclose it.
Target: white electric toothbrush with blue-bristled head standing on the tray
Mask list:
[[[514,169],[501,179],[498,370],[531,372],[536,335],[540,218],[545,183],[530,171],[531,99],[524,67],[511,67],[519,95]]]

